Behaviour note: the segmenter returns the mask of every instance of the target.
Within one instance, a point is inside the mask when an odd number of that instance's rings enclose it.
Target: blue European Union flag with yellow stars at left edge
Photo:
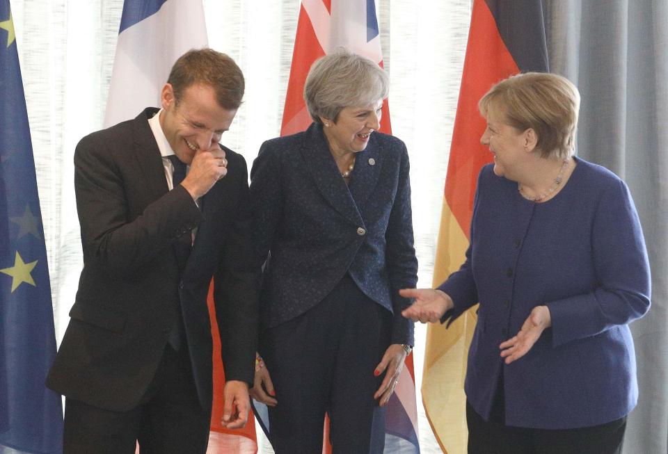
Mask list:
[[[47,250],[8,0],[0,0],[0,452],[61,453]]]

